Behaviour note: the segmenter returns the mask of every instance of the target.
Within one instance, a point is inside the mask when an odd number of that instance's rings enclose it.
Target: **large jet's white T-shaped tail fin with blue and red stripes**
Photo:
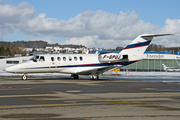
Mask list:
[[[150,42],[152,41],[153,37],[158,36],[166,36],[172,34],[143,34],[139,35],[135,40],[133,40],[128,46],[126,46],[120,54],[128,55],[128,58],[138,60],[142,59],[142,55],[144,54],[145,50],[149,46]]]

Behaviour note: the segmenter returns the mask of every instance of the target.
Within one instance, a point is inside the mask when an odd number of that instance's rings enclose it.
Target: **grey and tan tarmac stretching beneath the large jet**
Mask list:
[[[0,119],[179,120],[180,79],[0,76]]]

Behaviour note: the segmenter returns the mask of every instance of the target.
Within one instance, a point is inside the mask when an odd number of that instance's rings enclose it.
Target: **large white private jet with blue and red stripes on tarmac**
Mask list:
[[[24,63],[6,68],[7,72],[21,73],[22,80],[26,80],[28,73],[66,73],[74,79],[79,75],[90,75],[98,80],[104,72],[132,64],[142,59],[142,55],[153,37],[171,34],[143,34],[139,35],[119,54],[46,54],[36,55]]]

